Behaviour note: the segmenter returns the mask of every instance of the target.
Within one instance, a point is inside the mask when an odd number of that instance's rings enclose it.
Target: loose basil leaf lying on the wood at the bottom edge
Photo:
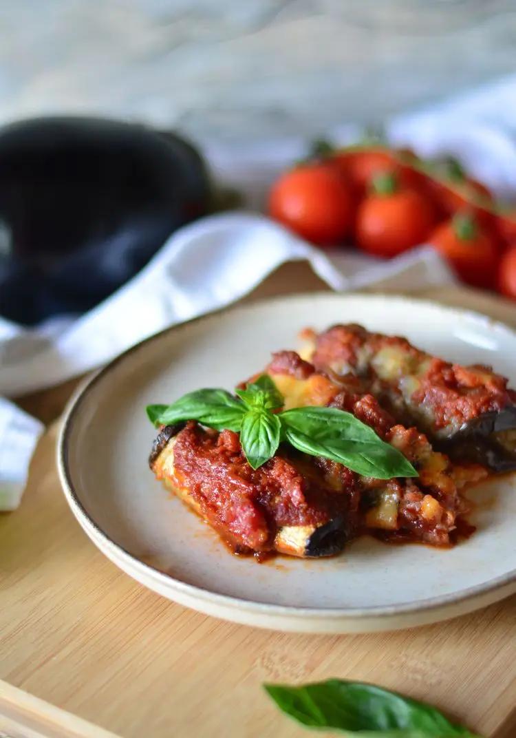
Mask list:
[[[373,684],[328,679],[304,686],[265,684],[282,712],[301,725],[352,738],[480,738],[436,708]]]

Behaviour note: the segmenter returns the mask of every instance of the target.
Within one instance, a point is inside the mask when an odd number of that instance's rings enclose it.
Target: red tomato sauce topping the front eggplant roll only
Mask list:
[[[174,445],[178,483],[226,531],[236,551],[268,551],[283,526],[321,525],[349,513],[356,475],[335,464],[335,478],[325,480],[321,461],[285,448],[252,469],[237,433],[204,430],[195,422],[186,424]]]

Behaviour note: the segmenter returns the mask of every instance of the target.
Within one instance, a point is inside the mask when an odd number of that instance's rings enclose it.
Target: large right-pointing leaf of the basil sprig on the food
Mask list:
[[[417,477],[400,451],[369,425],[335,407],[296,407],[279,413],[285,439],[305,454],[338,461],[364,477]]]

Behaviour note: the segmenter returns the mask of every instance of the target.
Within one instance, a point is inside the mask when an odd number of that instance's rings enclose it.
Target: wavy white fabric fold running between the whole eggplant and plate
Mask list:
[[[0,320],[0,392],[21,395],[97,367],[167,325],[233,303],[280,264],[299,260],[336,290],[453,279],[431,249],[388,263],[351,250],[328,258],[264,215],[213,215],[175,233],[139,275],[69,325],[47,323],[43,332]]]

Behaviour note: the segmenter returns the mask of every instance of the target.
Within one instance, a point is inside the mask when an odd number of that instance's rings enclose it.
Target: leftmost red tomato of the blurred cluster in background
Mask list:
[[[349,234],[352,196],[334,166],[301,165],[282,174],[273,184],[269,213],[307,241],[330,246]]]

